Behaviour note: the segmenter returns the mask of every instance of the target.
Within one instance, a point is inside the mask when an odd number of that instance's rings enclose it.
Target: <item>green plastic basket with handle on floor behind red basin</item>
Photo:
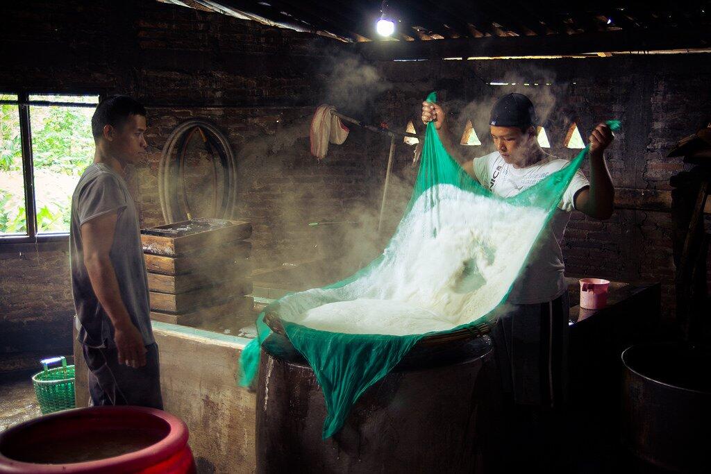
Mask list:
[[[62,362],[62,367],[48,367],[56,362]],[[67,359],[60,356],[43,360],[42,367],[42,372],[32,376],[42,414],[74,408],[74,366],[67,365]]]

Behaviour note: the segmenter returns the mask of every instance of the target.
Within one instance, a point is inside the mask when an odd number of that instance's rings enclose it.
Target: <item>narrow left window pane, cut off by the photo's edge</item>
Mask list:
[[[19,107],[0,104],[0,235],[26,235]]]

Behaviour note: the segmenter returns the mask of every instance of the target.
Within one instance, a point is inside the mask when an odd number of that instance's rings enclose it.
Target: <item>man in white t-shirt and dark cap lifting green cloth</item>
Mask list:
[[[496,151],[474,160],[460,153],[446,117],[439,104],[423,102],[422,122],[434,122],[449,154],[496,195],[517,195],[570,164],[538,145],[538,118],[525,95],[508,94],[494,104],[489,124]],[[611,216],[614,187],[603,151],[612,139],[606,124],[590,134],[590,178],[575,173],[492,332],[504,389],[517,406],[555,408],[565,400],[569,303],[560,241],[572,210],[599,219]]]

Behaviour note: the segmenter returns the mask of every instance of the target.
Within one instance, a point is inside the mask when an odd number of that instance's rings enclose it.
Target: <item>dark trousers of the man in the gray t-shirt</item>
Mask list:
[[[163,409],[158,345],[146,346],[146,365],[134,369],[119,364],[116,348],[82,345],[89,367],[92,406],[134,405]]]

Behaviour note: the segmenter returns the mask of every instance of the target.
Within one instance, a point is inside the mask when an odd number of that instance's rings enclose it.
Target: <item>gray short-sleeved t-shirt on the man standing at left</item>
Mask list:
[[[78,339],[91,347],[115,347],[114,327],[92,289],[84,265],[81,233],[82,224],[108,212],[118,215],[109,258],[116,272],[121,298],[144,343],[149,345],[154,343],[154,338],[138,214],[126,181],[104,163],[94,163],[86,168],[72,195],[70,257]]]

